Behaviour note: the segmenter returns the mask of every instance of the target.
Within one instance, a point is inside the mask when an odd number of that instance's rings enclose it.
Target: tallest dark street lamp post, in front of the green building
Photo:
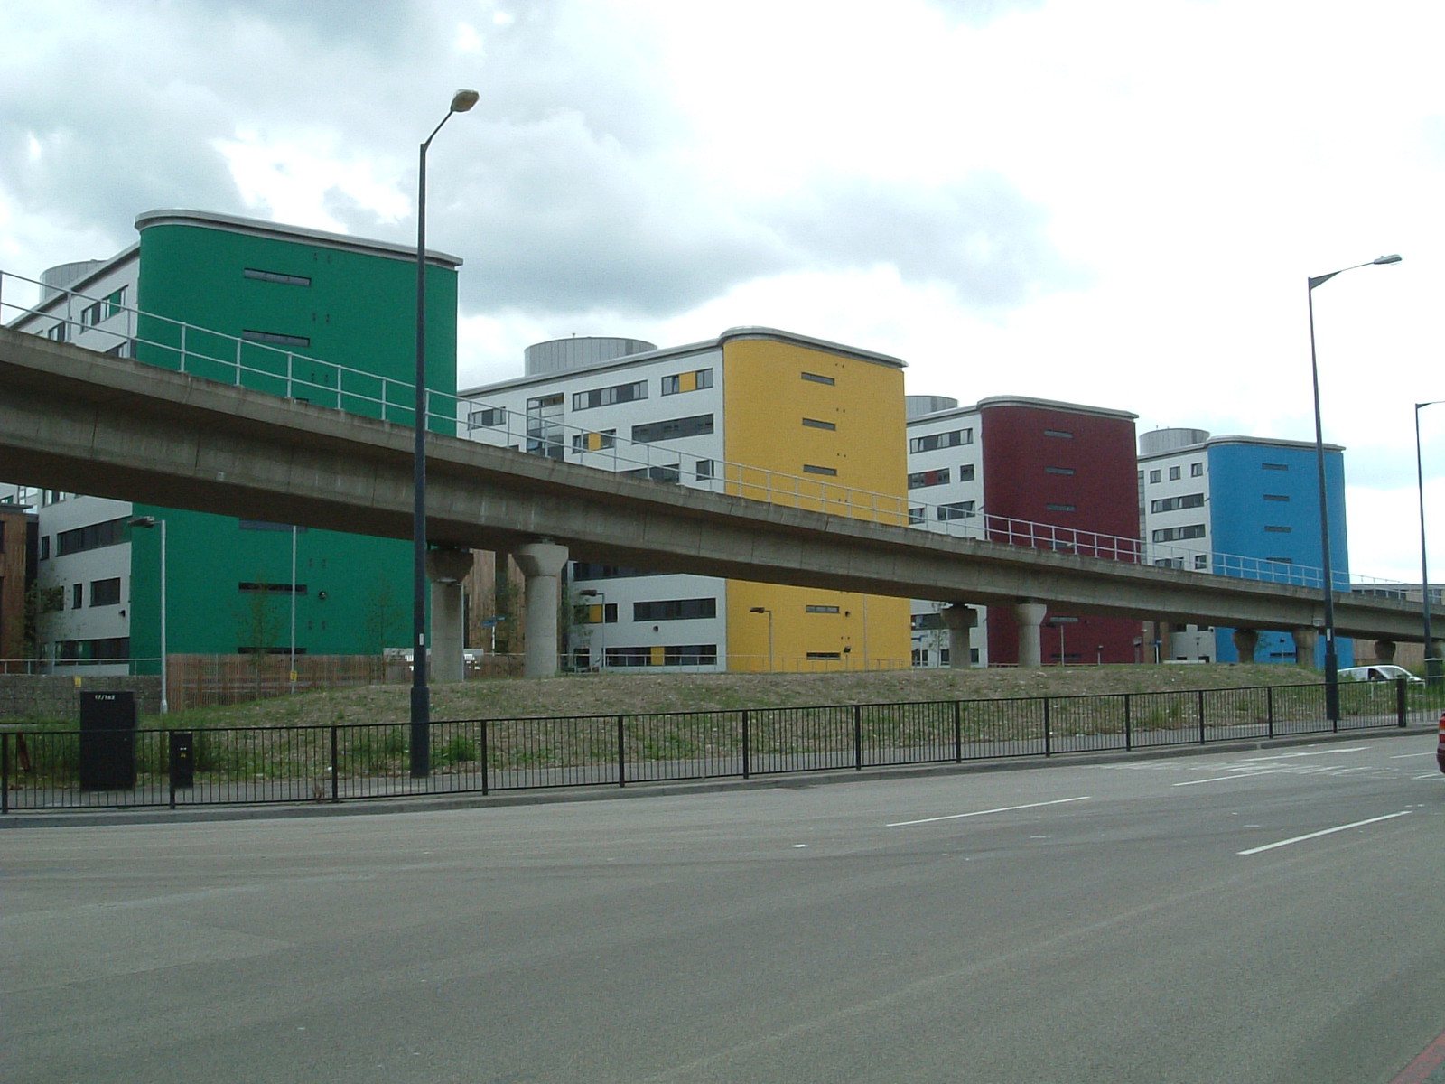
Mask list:
[[[412,454],[412,778],[431,775],[431,689],[426,685],[426,147],[452,113],[465,113],[478,94],[460,90],[451,108],[422,143],[416,171],[416,384]]]

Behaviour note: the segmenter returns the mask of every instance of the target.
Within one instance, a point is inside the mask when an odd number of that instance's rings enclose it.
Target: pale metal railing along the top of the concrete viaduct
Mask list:
[[[405,380],[363,371],[312,354],[283,350],[267,343],[237,338],[184,321],[142,312],[131,306],[110,305],[105,298],[77,291],[55,291],[45,302],[35,305],[7,301],[17,292],[39,292],[43,296],[46,289],[53,288],[45,286],[36,279],[0,270],[0,322],[13,325],[29,319],[40,321],[26,328],[36,334],[45,334],[49,328],[61,325],[65,327],[66,340],[74,340],[82,332],[87,335],[98,334],[105,337],[103,341],[113,340],[116,344],[108,351],[101,353],[134,357],[173,371],[270,392],[316,406],[350,410],[399,425],[413,425],[415,387]],[[82,324],[68,315],[74,308],[71,304],[64,304],[66,315],[55,315],[51,309],[56,306],[56,298],[65,299],[65,302],[81,301],[87,305],[107,304],[107,315],[97,324]],[[14,315],[7,319],[7,314]],[[124,319],[117,324],[120,317]],[[598,434],[551,418],[543,419],[506,406],[462,399],[436,390],[428,392],[426,416],[428,428],[435,432],[455,434],[484,444],[513,448],[523,454],[546,455],[610,473],[679,483],[770,504],[827,512],[876,523],[916,526],[954,538],[1051,549],[1105,561],[1202,571],[1298,587],[1319,588],[1324,585],[1324,569],[1309,565],[1282,564],[1263,558],[1191,549],[1173,543],[994,516],[968,509],[964,503],[915,503],[906,496],[876,493],[815,477],[714,460],[673,448],[665,441],[636,442],[613,434]],[[1340,591],[1351,590],[1351,580],[1360,585],[1397,584],[1397,581],[1373,577],[1347,577],[1338,569],[1334,578]]]

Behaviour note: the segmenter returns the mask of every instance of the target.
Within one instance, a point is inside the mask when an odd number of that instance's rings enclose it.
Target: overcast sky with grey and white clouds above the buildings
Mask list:
[[[1418,581],[1442,40],[1431,0],[6,0],[0,267],[165,207],[415,243],[418,143],[474,87],[428,156],[462,386],[546,338],[762,324],[915,395],[1314,439],[1306,279],[1399,251],[1315,325],[1353,571]]]

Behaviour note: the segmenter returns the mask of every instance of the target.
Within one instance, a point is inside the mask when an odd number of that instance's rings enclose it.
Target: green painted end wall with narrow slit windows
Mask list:
[[[246,270],[306,279],[266,280]],[[457,273],[428,266],[428,387],[457,390]],[[257,237],[191,224],[140,234],[137,360],[318,405],[412,423],[416,264],[406,257],[334,249],[311,238]],[[186,328],[165,319],[184,321]],[[308,340],[267,350],[246,331]],[[182,340],[184,335],[184,340]],[[202,354],[212,360],[198,360]],[[237,360],[243,370],[238,371]],[[357,371],[347,371],[357,370]],[[390,377],[400,386],[384,387]],[[445,425],[434,425],[445,429]],[[230,516],[137,504],[166,520],[168,650],[234,653],[289,648],[292,532]],[[160,655],[159,530],[131,535],[131,655]],[[249,591],[241,584],[285,585]],[[412,548],[394,539],[296,532],[296,648],[309,655],[374,653],[410,642]]]

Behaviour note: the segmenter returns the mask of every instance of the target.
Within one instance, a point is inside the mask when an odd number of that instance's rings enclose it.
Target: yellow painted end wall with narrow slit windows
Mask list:
[[[803,373],[832,383],[803,379]],[[906,522],[903,371],[767,338],[722,345],[727,491],[835,515]],[[834,429],[803,423],[828,422]],[[835,476],[805,474],[803,465]],[[795,483],[792,478],[802,478]],[[881,494],[881,500],[879,496]],[[909,601],[776,584],[728,582],[733,671],[879,669],[910,665]],[[837,607],[809,613],[808,607]],[[769,656],[769,614],[773,650]],[[808,655],[837,659],[809,659]]]

